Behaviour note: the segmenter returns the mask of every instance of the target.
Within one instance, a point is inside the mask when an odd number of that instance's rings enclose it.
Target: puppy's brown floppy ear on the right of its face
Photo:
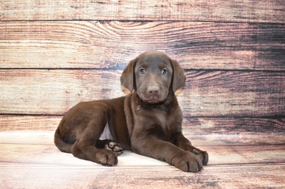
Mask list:
[[[175,92],[185,84],[186,76],[184,70],[176,60],[171,60],[173,75],[172,75],[172,91]]]

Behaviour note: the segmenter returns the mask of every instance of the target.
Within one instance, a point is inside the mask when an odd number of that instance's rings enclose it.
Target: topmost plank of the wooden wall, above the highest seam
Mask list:
[[[285,4],[260,1],[2,1],[2,21],[132,20],[284,23]]]

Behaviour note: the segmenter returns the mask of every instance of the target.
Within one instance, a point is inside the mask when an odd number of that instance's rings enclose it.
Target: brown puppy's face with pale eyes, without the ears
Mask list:
[[[134,72],[135,91],[143,102],[156,104],[165,101],[173,73],[171,60],[166,55],[157,52],[140,55]]]

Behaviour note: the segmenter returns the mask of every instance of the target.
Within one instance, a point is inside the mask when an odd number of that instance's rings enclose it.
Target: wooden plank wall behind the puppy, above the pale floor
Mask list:
[[[187,74],[189,134],[284,134],[284,4],[2,1],[1,130],[54,130],[80,101],[125,95],[125,65],[156,49]]]

